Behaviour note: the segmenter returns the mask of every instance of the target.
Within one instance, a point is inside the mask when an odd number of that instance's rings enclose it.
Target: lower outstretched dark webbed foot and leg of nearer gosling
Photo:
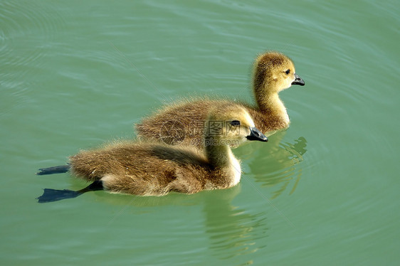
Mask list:
[[[60,201],[65,198],[76,198],[88,191],[100,191],[102,190],[102,181],[94,181],[89,186],[79,190],[70,191],[69,189],[57,190],[51,188],[44,188],[43,195],[38,197],[38,203],[46,203],[53,201]]]

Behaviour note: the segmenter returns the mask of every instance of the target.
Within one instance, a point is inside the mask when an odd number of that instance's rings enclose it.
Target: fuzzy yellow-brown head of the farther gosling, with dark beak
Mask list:
[[[291,85],[304,86],[305,82],[296,74],[290,58],[278,52],[263,53],[256,58],[253,74],[256,95],[278,93]]]

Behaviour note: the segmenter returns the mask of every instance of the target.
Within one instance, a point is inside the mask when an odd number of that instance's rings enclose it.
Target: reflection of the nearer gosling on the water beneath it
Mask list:
[[[107,224],[109,226],[114,226],[113,223],[118,223],[117,221],[123,219],[127,212],[134,212],[135,215],[140,215],[141,213],[152,213],[159,210],[157,206],[175,206],[174,208],[203,206],[204,217],[199,220],[199,223],[204,223],[205,232],[207,238],[209,238],[208,248],[211,254],[219,260],[229,260],[231,258],[245,260],[241,261],[241,264],[249,265],[252,264],[252,261],[246,255],[263,248],[258,243],[258,239],[268,236],[266,234],[268,226],[265,211],[250,213],[245,208],[233,206],[231,202],[239,193],[241,193],[241,184],[233,188],[202,191],[192,195],[170,193],[162,197],[143,197],[122,194],[110,195],[105,191],[95,191],[87,193],[86,196],[92,195],[96,201],[117,206],[114,216],[110,218]],[[78,201],[79,199],[72,200]],[[82,200],[82,197],[80,200]],[[131,208],[132,206],[134,208]],[[173,223],[181,220],[186,220],[186,218],[172,218]],[[160,223],[163,222],[160,221]],[[196,225],[191,226],[196,227]],[[175,230],[185,230],[184,228],[179,228],[175,228]],[[174,229],[170,228],[170,230]]]

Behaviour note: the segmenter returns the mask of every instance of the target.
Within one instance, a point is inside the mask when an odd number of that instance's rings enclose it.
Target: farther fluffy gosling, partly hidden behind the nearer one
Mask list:
[[[305,85],[304,80],[295,73],[293,61],[282,53],[263,53],[256,58],[253,72],[256,105],[245,102],[238,104],[248,110],[263,134],[288,127],[290,120],[278,92],[291,85]],[[206,119],[211,108],[229,102],[233,101],[209,98],[181,100],[136,124],[137,134],[140,139],[158,139],[167,144],[189,144],[201,148],[203,137],[196,130],[197,124]]]

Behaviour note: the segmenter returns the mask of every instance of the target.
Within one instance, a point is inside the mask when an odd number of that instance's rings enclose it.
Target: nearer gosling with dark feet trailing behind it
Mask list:
[[[104,189],[115,193],[162,196],[169,191],[196,193],[230,188],[241,179],[241,166],[229,144],[248,140],[267,142],[245,108],[223,105],[209,113],[204,123],[205,147],[174,147],[167,144],[118,142],[100,149],[80,151],[67,166],[39,169],[38,175],[65,173],[93,181],[80,191],[46,188],[40,203],[75,198]]]

